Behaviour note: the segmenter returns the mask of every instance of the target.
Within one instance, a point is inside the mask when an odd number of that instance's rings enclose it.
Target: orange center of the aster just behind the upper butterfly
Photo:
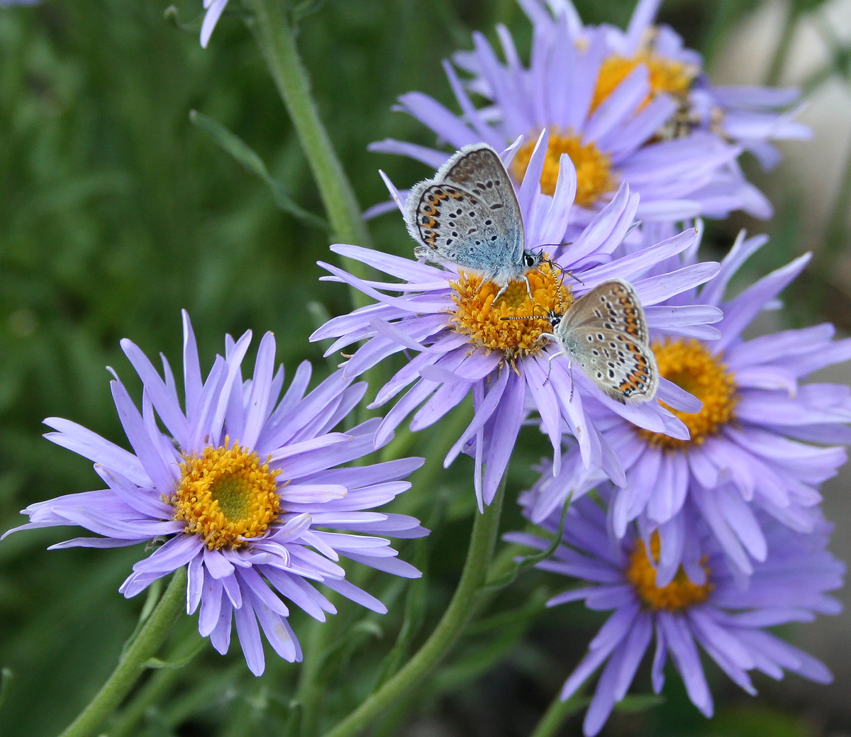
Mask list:
[[[515,181],[523,181],[537,141],[538,134],[531,134],[515,154],[511,162],[511,175]],[[576,167],[575,202],[580,207],[590,207],[603,195],[614,191],[616,183],[608,154],[600,151],[593,143],[582,143],[578,135],[551,129],[544,170],[540,174],[540,191],[544,194],[552,195],[556,191],[558,167],[563,153],[570,157]]]

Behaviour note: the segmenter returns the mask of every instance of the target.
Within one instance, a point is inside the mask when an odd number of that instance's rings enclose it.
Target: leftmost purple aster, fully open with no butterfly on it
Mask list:
[[[377,535],[420,537],[426,530],[413,517],[371,511],[410,486],[402,479],[421,459],[336,467],[374,449],[377,420],[332,431],[366,386],[349,386],[338,372],[306,393],[311,367],[302,363],[278,401],[283,367],[274,370],[271,333],[260,341],[254,374],[243,381],[250,340],[250,332],[236,341],[228,336],[225,357],[216,357],[203,380],[184,312],[186,411],[165,358],[161,376],[137,346],[123,340],[144,385],[140,412],[121,381],[111,382],[133,452],[70,420],[45,420],[56,430],[46,437],[94,460],[106,488],[28,506],[23,513],[30,522],[9,532],[79,525],[101,535],[52,548],[164,540],[134,564],[119,591],[133,597],[186,566],[186,611],[200,605],[198,631],[224,654],[236,620],[248,668],[260,675],[260,629],[282,658],[301,659],[283,599],[324,621],[334,605],[311,586],[316,582],[384,613],[378,599],[346,580],[340,557],[416,578],[419,572]],[[157,415],[168,434],[159,430]]]

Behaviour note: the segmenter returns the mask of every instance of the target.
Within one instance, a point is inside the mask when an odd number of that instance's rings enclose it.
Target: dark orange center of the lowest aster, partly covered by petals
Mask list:
[[[659,533],[650,537],[650,552],[654,561],[659,561]],[[677,571],[674,580],[667,586],[656,586],[656,569],[650,563],[647,548],[643,540],[637,540],[635,550],[630,555],[630,565],[626,569],[626,578],[635,586],[638,597],[644,605],[653,611],[665,609],[667,612],[678,612],[693,604],[704,603],[714,588],[710,583],[709,568],[706,557],[700,559],[700,565],[706,574],[705,584],[695,584],[688,579],[683,568]]]

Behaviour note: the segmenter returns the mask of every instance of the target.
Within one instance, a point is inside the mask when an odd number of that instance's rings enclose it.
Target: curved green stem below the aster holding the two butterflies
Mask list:
[[[325,737],[354,737],[360,733],[376,717],[402,700],[405,694],[411,693],[411,689],[448,654],[470,620],[476,608],[478,593],[488,575],[488,564],[494,554],[496,534],[500,528],[503,491],[504,484],[494,503],[484,514],[476,515],[458,588],[443,619],[437,623],[426,643],[401,671],[326,733]]]

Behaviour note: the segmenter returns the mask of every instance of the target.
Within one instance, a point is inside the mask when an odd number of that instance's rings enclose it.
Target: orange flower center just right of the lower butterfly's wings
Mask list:
[[[736,382],[720,357],[713,356],[703,343],[694,339],[657,342],[653,344],[653,352],[660,375],[689,394],[694,394],[703,407],[700,412],[688,414],[662,403],[688,427],[691,433],[688,440],[677,440],[648,430],[638,430],[639,437],[658,448],[688,448],[689,445],[700,445],[707,437],[715,435],[722,426],[734,420],[734,409],[739,399]]]

